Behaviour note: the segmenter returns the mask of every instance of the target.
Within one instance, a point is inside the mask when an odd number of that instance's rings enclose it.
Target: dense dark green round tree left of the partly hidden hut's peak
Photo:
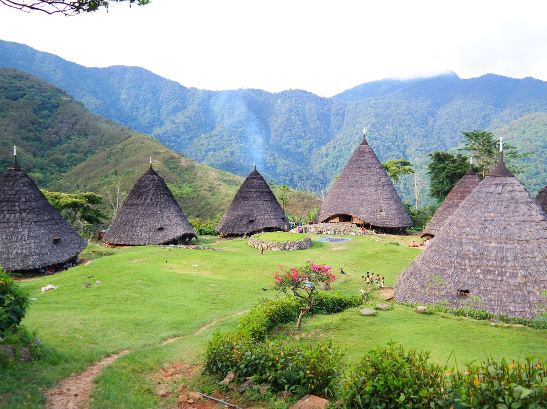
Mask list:
[[[467,157],[461,153],[455,156],[448,152],[435,150],[427,156],[431,158],[431,162],[427,165],[429,195],[440,203],[468,171],[469,163]]]

